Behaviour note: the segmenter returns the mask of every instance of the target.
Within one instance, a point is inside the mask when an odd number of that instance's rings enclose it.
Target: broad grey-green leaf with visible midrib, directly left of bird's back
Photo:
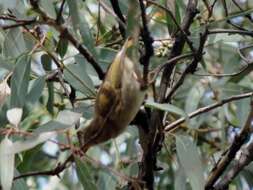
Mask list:
[[[86,73],[86,66],[83,63],[70,64],[64,69],[64,78],[72,85],[76,90],[82,92],[85,95],[94,95],[95,88]]]

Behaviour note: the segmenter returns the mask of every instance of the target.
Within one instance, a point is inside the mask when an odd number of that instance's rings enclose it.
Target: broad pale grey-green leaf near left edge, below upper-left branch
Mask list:
[[[16,58],[24,53],[26,51],[26,45],[21,29],[11,29],[5,37],[3,46],[5,57]]]

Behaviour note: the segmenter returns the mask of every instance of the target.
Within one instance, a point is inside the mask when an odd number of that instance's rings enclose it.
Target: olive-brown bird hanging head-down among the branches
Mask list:
[[[134,119],[146,94],[138,63],[127,57],[128,37],[109,66],[95,99],[94,117],[77,132],[82,152],[117,137]]]

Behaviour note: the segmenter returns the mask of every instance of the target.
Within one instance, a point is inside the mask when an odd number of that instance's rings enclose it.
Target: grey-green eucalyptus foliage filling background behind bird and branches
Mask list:
[[[94,97],[101,83],[99,69],[94,69],[94,63],[105,72],[124,42],[122,31],[118,30],[120,19],[111,4],[113,1],[41,0],[38,1],[39,9],[34,2],[37,1],[0,0],[1,144],[8,136],[11,142],[21,142],[22,146],[25,146],[22,142],[30,139],[28,144],[31,145],[30,148],[23,147],[22,152],[17,151],[15,176],[50,171],[73,151],[74,145],[78,144],[74,124],[81,117],[80,125],[84,127],[92,118]],[[169,13],[179,24],[183,23],[191,1],[144,2],[148,28],[154,39],[155,55],[149,63],[153,70],[171,58],[175,45],[178,29]],[[119,0],[118,3],[122,14],[128,15],[125,27],[131,34],[142,25],[141,18],[134,17],[135,12],[140,12],[139,3],[135,0]],[[198,1],[197,9],[199,13],[187,31],[192,46],[198,49],[200,34],[205,33],[206,27],[216,32],[208,34],[196,70],[187,73],[170,101],[162,103],[154,97],[154,89],[159,94],[161,88],[160,72],[143,105],[151,112],[163,110],[164,126],[186,118],[177,129],[165,132],[161,151],[155,155],[157,166],[162,168],[153,171],[155,189],[204,189],[215,163],[251,119],[253,2],[203,0]],[[57,22],[48,24],[44,13]],[[67,28],[68,32],[57,26]],[[85,56],[83,49],[78,48],[79,44],[73,43],[68,34],[88,50],[91,58]],[[139,48],[137,57],[145,52],[143,39],[140,39]],[[180,54],[190,51],[186,43]],[[184,75],[192,59],[188,57],[176,64],[171,84]],[[194,118],[187,116],[201,107],[245,94],[248,98],[243,96],[237,101],[229,101]],[[8,119],[6,113],[16,107],[21,108],[23,114],[17,126],[13,126],[11,120],[17,119],[19,114],[14,112]],[[49,131],[56,131],[57,135],[51,138],[50,134],[49,140],[46,138],[44,144],[39,144],[43,140],[38,142],[36,139]],[[244,139],[244,145],[236,150],[235,159],[229,161],[223,175],[233,170],[240,155],[251,145],[251,131],[251,128],[247,130],[249,135],[246,141]],[[32,142],[39,145],[32,146]],[[131,125],[116,139],[90,149],[84,159],[76,158],[59,178],[51,176],[55,173],[43,176],[32,173],[14,180],[12,189],[137,188],[135,177],[140,174],[142,156],[138,127]],[[1,154],[0,157],[3,159]],[[10,173],[8,167],[13,163],[7,159],[5,164]],[[252,189],[252,179],[253,166],[249,164],[230,182],[229,189]]]

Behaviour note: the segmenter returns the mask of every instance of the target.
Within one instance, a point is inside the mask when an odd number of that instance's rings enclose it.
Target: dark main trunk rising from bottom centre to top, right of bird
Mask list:
[[[181,28],[184,32],[180,32],[176,35],[175,43],[171,50],[169,60],[179,56],[182,53],[183,47],[186,42],[185,34],[189,30],[190,25],[193,22],[193,18],[197,14],[197,1],[189,0],[187,5],[186,14],[181,25]],[[172,62],[165,66],[165,69],[162,74],[162,80],[159,89],[158,102],[165,101],[166,90],[170,83],[170,75],[176,61]],[[150,124],[145,126],[148,128],[148,133],[143,132],[140,129],[140,144],[143,149],[143,157],[139,166],[138,177],[146,182],[145,188],[148,190],[153,190],[154,187],[154,171],[159,170],[160,168],[156,166],[156,155],[157,152],[161,149],[163,141],[163,130],[162,130],[162,118],[163,112],[159,110],[154,110],[150,116]],[[158,130],[160,132],[158,132]]]

